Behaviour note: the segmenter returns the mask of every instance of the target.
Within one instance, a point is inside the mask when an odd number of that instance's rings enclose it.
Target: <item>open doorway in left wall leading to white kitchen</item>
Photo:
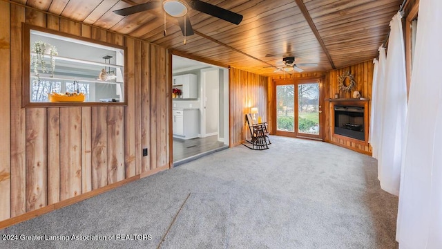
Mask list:
[[[229,70],[172,55],[173,167],[229,147]]]

